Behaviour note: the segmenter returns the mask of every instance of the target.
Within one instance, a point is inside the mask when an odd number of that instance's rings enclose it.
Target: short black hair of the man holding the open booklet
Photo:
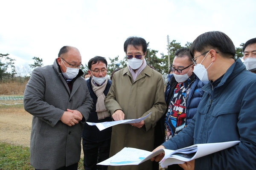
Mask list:
[[[222,57],[233,58],[236,54],[235,45],[230,37],[221,31],[210,31],[199,35],[190,47],[190,54],[194,58],[195,52],[206,52],[210,48],[219,52]]]

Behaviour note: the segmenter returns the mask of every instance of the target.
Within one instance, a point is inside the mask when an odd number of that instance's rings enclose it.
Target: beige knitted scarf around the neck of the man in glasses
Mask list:
[[[107,77],[106,81],[104,82],[104,84],[101,86],[94,85],[93,79],[91,79],[91,84],[93,86],[93,92],[98,97],[97,102],[96,102],[96,112],[97,112],[98,119],[99,120],[105,119],[106,117],[110,116],[105,107],[105,104],[104,104],[104,99],[106,96],[103,93],[108,84],[108,77]]]

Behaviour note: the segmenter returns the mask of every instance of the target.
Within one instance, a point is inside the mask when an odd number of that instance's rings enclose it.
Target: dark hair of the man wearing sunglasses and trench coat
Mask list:
[[[146,40],[144,40],[141,37],[128,37],[125,40],[125,43],[124,43],[125,54],[126,54],[128,45],[132,45],[137,49],[138,49],[138,47],[142,46],[143,53],[146,53],[147,49],[148,49],[148,44],[147,44]]]

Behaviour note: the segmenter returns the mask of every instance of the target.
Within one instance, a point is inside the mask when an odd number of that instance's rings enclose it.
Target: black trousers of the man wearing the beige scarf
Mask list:
[[[83,139],[84,170],[108,170],[108,166],[96,164],[109,158],[110,141],[91,142]]]

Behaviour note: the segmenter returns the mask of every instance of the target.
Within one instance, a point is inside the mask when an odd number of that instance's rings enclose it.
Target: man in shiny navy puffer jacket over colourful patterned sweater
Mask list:
[[[165,91],[165,141],[177,135],[189,124],[204,94],[201,88],[208,83],[201,82],[193,73],[194,63],[189,48],[181,48],[175,52],[170,70],[173,76]],[[177,164],[168,166],[168,169],[182,170]]]

